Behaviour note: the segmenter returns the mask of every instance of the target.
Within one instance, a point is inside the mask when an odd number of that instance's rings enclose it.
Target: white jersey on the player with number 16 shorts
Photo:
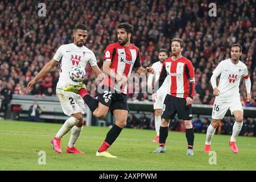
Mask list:
[[[247,67],[241,61],[233,64],[231,59],[226,59],[220,62],[214,69],[213,73],[220,76],[218,90],[220,95],[216,99],[220,101],[228,101],[233,98],[240,99],[239,85],[241,78],[249,77]]]

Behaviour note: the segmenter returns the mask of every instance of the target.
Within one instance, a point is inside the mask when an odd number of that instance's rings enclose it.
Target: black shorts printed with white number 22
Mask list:
[[[103,92],[98,92],[98,101],[108,106],[112,114],[115,109],[129,111],[126,94],[117,93],[114,89],[110,89],[109,86],[105,85],[101,87],[101,91]]]

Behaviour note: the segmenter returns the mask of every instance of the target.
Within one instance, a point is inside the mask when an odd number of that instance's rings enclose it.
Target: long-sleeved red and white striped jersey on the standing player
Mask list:
[[[163,63],[159,77],[159,87],[168,79],[168,88],[171,96],[180,98],[193,98],[195,94],[195,73],[190,60],[181,56],[177,60],[169,59]]]

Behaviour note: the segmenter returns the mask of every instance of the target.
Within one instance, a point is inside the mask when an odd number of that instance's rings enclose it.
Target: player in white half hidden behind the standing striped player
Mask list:
[[[158,52],[158,59],[156,63],[152,64],[152,68],[154,69],[155,73],[150,74],[148,76],[147,80],[147,88],[148,90],[152,90],[152,84],[154,84],[158,81],[160,73],[162,71],[163,67],[163,61],[168,58],[168,53],[166,49],[160,49]],[[166,79],[167,81],[167,79]],[[159,129],[161,125],[161,114],[162,114],[162,107],[163,107],[163,102],[164,98],[166,98],[166,94],[168,93],[168,84],[166,84],[166,81],[163,83],[161,88],[159,88],[157,92],[157,98],[156,101],[154,102],[154,110],[155,110],[155,131],[156,131],[156,137],[153,140],[153,142],[159,142]]]

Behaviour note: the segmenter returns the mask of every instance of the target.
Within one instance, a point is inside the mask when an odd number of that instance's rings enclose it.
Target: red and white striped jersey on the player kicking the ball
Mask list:
[[[118,42],[109,44],[104,51],[104,61],[111,61],[110,68],[119,75],[125,75],[128,79],[133,67],[141,67],[139,48],[133,44],[128,47],[123,47]],[[127,84],[123,86],[110,77],[104,78],[102,85],[114,88],[117,92],[127,93]]]

